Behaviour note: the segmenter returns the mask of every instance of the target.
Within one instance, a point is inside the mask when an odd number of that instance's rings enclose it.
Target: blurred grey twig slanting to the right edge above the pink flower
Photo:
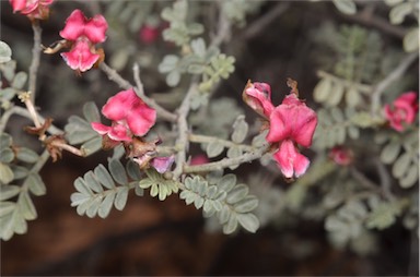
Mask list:
[[[372,93],[372,106],[371,106],[371,115],[375,116],[376,112],[381,108],[381,96],[385,92],[385,89],[407,71],[410,64],[417,60],[419,57],[418,52],[413,52],[408,55],[406,58],[401,60],[395,70],[393,70],[384,80],[382,80],[375,87]]]

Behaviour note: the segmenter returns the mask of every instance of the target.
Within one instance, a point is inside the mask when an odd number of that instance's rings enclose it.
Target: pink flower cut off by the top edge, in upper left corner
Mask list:
[[[49,5],[54,0],[9,0],[13,12],[20,12],[31,20],[46,20],[49,16]]]

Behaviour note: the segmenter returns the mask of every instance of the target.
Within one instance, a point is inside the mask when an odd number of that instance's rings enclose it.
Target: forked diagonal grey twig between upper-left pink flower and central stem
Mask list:
[[[137,68],[137,69],[136,69]],[[115,82],[117,85],[119,85],[124,89],[130,89],[133,88],[136,93],[141,96],[141,99],[151,108],[155,109],[158,115],[170,121],[170,122],[175,122],[176,121],[176,116],[167,110],[165,110],[163,107],[158,105],[153,99],[147,97],[144,95],[144,89],[143,89],[143,84],[140,81],[140,75],[139,75],[139,67],[135,64],[133,70],[135,70],[135,80],[137,86],[133,86],[130,82],[121,77],[121,75],[118,74],[118,72],[109,65],[107,65],[105,62],[101,62],[100,69],[108,76],[108,79],[113,82]]]

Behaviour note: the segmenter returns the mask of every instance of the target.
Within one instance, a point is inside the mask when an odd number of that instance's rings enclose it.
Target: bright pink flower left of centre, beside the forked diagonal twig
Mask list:
[[[156,111],[143,103],[132,88],[110,97],[102,108],[102,113],[113,121],[112,127],[98,122],[92,122],[91,125],[114,141],[131,141],[132,135],[143,136],[156,121]]]

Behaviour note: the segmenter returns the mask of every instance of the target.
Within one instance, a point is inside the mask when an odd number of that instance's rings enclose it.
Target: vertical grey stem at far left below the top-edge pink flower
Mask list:
[[[36,96],[36,76],[39,68],[39,58],[40,58],[40,36],[43,29],[39,26],[37,20],[33,21],[32,29],[34,31],[34,47],[32,48],[32,62],[30,67],[30,81],[28,81],[28,91],[31,92],[31,101],[35,103]]]

